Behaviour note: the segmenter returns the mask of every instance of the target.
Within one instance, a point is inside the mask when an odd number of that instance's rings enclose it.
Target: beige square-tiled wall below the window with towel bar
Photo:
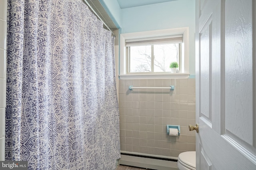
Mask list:
[[[162,89],[134,89],[128,86],[170,86]],[[119,80],[121,150],[178,157],[184,151],[196,150],[195,79]],[[180,125],[181,134],[166,134],[166,125]]]

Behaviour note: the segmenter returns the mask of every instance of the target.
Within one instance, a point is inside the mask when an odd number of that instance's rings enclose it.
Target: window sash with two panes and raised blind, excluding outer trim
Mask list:
[[[126,39],[127,72],[170,72],[170,63],[180,66],[182,34]]]

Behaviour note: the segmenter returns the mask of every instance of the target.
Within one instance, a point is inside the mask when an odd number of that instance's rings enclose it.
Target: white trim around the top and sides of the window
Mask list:
[[[174,28],[174,29],[161,29],[161,30],[154,30],[154,31],[143,31],[143,32],[120,34],[120,76],[122,77],[127,74],[127,72],[126,72],[126,70],[127,70],[126,69],[126,66],[127,66],[127,63],[126,63],[126,39],[159,37],[159,36],[169,36],[169,35],[177,35],[177,34],[183,34],[183,42],[184,42],[184,57],[182,57],[182,59],[180,61],[180,63],[182,64],[180,71],[182,73],[188,73],[189,72],[188,31],[189,31],[188,27],[181,27],[181,28]],[[159,75],[159,74],[156,74],[156,75]],[[145,75],[143,75],[143,77],[145,77]],[[164,77],[166,77],[166,76],[164,76]],[[162,78],[162,77],[157,76],[156,78]]]

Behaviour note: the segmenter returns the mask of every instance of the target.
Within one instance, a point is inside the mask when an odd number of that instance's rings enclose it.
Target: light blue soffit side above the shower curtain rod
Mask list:
[[[117,28],[122,25],[121,9],[116,0],[99,0]]]

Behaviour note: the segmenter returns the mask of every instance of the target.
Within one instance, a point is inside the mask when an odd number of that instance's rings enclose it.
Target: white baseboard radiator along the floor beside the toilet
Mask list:
[[[178,170],[177,158],[121,151],[119,165],[135,166],[152,170]]]

